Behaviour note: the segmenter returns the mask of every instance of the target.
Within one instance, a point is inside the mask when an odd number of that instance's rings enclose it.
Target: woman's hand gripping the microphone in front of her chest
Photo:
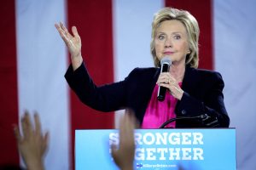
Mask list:
[[[183,97],[183,89],[179,87],[177,80],[170,72],[162,72],[156,82],[159,86],[169,89],[170,94],[178,100]]]

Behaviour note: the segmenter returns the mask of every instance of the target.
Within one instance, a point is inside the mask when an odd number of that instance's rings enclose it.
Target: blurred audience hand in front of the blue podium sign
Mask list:
[[[132,170],[135,154],[134,128],[136,127],[135,117],[125,112],[119,123],[119,149],[118,146],[111,146],[111,153],[116,165],[122,170]]]

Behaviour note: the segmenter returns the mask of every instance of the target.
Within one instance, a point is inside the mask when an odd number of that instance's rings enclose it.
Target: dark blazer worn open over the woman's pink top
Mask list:
[[[83,63],[76,71],[70,65],[65,78],[85,105],[104,112],[128,107],[142,123],[159,75],[160,68],[136,68],[124,81],[96,86]],[[183,97],[177,102],[175,113],[200,118],[177,121],[177,127],[229,127],[222,93],[224,82],[218,72],[186,66],[182,88]]]

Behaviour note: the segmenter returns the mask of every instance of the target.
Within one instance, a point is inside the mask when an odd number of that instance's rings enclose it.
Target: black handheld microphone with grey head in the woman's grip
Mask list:
[[[161,70],[160,73],[162,72],[168,72],[170,69],[170,65],[172,65],[172,61],[170,57],[165,56],[163,59],[160,61],[161,64]],[[166,89],[164,87],[159,87],[158,88],[158,93],[157,93],[157,99],[159,101],[164,101],[166,98]]]

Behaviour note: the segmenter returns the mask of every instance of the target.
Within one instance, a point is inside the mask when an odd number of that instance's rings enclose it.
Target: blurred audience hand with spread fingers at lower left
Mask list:
[[[44,154],[48,148],[49,133],[42,134],[41,123],[38,114],[34,114],[35,127],[28,112],[21,118],[23,136],[17,125],[14,127],[15,138],[20,150],[20,155],[29,170],[44,169]]]

